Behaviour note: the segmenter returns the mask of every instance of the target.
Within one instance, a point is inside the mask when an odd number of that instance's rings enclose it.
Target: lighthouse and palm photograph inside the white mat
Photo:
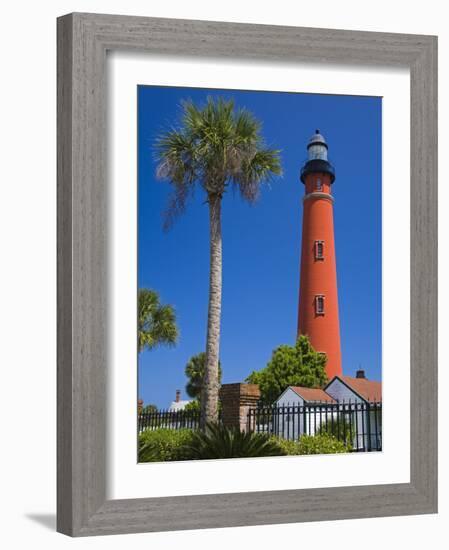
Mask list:
[[[138,461],[382,450],[382,98],[138,86]]]

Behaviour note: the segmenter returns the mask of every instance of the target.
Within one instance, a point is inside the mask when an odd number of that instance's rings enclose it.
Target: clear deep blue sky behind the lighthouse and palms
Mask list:
[[[138,87],[138,285],[176,308],[174,348],[139,357],[139,396],[167,407],[185,394],[184,368],[205,348],[209,271],[207,205],[201,189],[170,232],[162,212],[170,192],[155,178],[155,137],[180,116],[180,102],[233,98],[263,122],[269,146],[281,149],[284,174],[253,206],[223,199],[223,382],[263,368],[272,350],[293,344],[297,328],[306,145],[319,128],[336,170],[333,186],[343,373],[362,366],[381,378],[381,111],[378,97]]]

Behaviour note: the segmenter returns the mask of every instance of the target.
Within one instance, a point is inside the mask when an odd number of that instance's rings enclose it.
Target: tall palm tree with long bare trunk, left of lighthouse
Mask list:
[[[156,143],[157,176],[173,188],[165,212],[169,228],[199,185],[209,204],[210,272],[206,336],[206,370],[201,397],[201,426],[218,417],[218,357],[222,294],[221,200],[229,186],[254,202],[260,184],[281,174],[279,151],[265,146],[260,122],[233,101],[208,98],[197,107],[182,104],[178,128],[163,133]]]

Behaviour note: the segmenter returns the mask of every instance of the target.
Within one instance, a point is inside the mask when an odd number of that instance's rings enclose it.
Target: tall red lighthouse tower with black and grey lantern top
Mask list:
[[[327,143],[316,130],[301,170],[305,186],[299,289],[298,336],[306,334],[316,351],[326,354],[329,379],[341,375],[332,184],[335,170]]]

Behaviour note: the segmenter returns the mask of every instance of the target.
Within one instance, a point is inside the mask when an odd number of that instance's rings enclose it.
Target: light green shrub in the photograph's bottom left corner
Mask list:
[[[188,460],[187,445],[193,431],[188,429],[145,430],[139,435],[139,462],[166,462]]]

